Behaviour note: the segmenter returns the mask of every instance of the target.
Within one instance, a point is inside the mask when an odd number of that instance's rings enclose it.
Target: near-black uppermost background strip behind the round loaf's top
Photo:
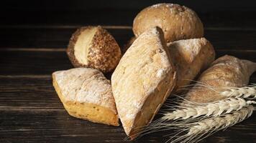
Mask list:
[[[36,25],[132,25],[134,16],[143,8],[160,2],[178,3],[188,6],[198,13],[204,23],[230,19],[246,26],[255,25],[256,1],[243,0],[27,0],[1,1],[1,24],[36,24]],[[252,24],[250,24],[253,22]],[[235,26],[231,24],[231,26]],[[242,26],[242,25],[241,25]]]

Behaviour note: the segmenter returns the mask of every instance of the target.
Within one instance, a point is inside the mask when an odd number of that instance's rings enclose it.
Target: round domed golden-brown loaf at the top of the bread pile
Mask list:
[[[167,42],[204,36],[204,26],[196,12],[178,4],[155,4],[135,17],[133,32],[139,36],[147,29],[159,26]]]

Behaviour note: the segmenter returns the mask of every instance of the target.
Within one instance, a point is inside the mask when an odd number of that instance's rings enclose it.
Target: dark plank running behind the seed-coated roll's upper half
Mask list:
[[[40,27],[29,26],[3,27],[0,33],[0,49],[6,48],[65,48],[70,36],[78,26]],[[130,26],[104,26],[114,36],[119,46],[124,46],[133,36]],[[206,39],[209,39],[216,49],[255,50],[256,29],[236,28],[206,28]]]

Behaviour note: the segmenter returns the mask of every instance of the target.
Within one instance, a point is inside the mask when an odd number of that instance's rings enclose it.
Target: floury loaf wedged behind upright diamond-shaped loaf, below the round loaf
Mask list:
[[[177,69],[176,92],[182,91],[183,86],[190,84],[215,59],[214,47],[205,38],[170,42],[168,49]]]

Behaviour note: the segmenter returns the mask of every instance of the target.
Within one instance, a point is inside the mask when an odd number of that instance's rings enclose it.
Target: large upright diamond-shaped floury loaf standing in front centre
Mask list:
[[[163,31],[154,27],[129,47],[111,77],[124,131],[134,139],[149,124],[175,85]]]

